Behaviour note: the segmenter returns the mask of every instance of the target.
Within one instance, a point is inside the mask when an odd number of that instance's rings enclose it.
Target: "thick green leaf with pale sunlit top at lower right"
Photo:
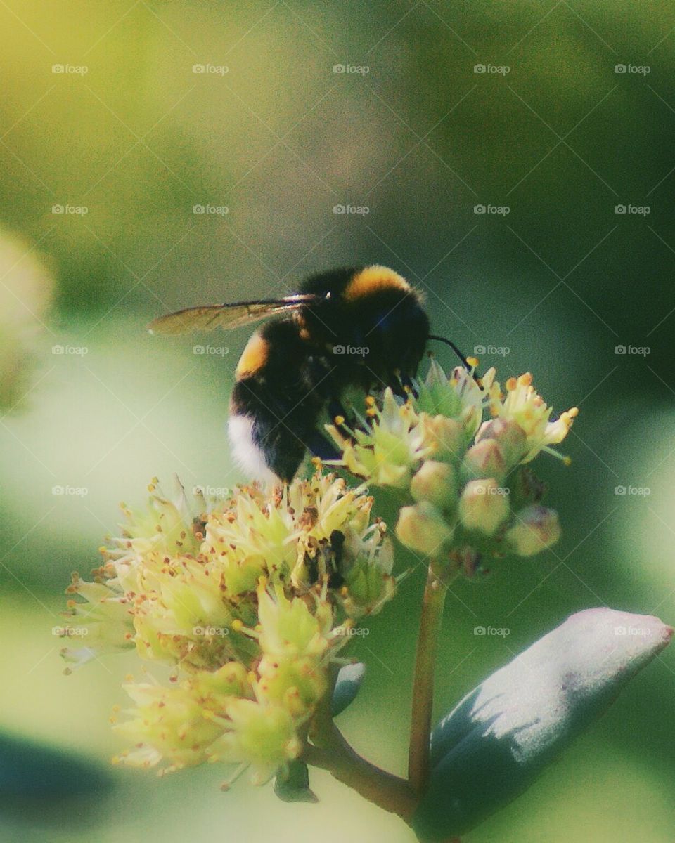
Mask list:
[[[672,634],[651,615],[586,609],[485,679],[434,730],[420,840],[464,834],[526,790]]]

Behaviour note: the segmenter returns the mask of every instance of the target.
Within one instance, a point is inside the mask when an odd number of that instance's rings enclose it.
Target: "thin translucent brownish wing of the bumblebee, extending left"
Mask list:
[[[211,304],[197,308],[177,310],[173,314],[159,316],[148,325],[151,334],[185,334],[190,330],[213,330],[213,328],[239,328],[250,325],[267,316],[297,310],[304,304],[321,301],[323,296],[313,293],[299,293],[286,298],[268,298],[253,302],[232,302]]]

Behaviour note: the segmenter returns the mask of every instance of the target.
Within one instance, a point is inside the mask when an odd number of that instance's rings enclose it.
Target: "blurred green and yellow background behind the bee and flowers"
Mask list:
[[[107,764],[138,663],[62,675],[69,572],[98,564],[152,476],[242,479],[224,423],[248,331],[143,325],[330,266],[392,266],[435,332],[487,349],[483,368],[532,370],[556,408],[580,405],[571,468],[537,464],[563,538],[452,589],[438,714],[575,610],[675,620],[672,3],[7,0],[0,33],[0,727]],[[358,643],[369,674],[343,716],[397,772],[422,580]],[[672,843],[673,699],[670,648],[467,840]],[[300,807],[243,781],[224,795],[221,776],[122,771],[93,799],[5,799],[0,840],[412,840],[322,773],[321,805]]]

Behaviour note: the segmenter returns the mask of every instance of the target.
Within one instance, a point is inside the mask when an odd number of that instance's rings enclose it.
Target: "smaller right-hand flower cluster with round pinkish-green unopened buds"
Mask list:
[[[490,558],[533,556],[559,539],[557,513],[543,506],[543,483],[526,464],[541,451],[559,456],[551,446],[578,412],[551,421],[529,373],[509,379],[505,393],[494,374],[456,368],[448,378],[432,359],[408,400],[386,389],[381,402],[366,399],[354,428],[343,417],[329,428],[348,471],[408,499],[396,525],[402,544],[467,576]]]

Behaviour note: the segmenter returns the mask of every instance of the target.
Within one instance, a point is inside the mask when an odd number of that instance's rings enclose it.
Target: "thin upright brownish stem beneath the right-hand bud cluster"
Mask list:
[[[429,562],[422,601],[417,656],[413,678],[413,711],[408,750],[408,781],[413,792],[421,794],[429,779],[429,738],[434,705],[434,668],[438,652],[446,585],[441,582],[435,562]]]

